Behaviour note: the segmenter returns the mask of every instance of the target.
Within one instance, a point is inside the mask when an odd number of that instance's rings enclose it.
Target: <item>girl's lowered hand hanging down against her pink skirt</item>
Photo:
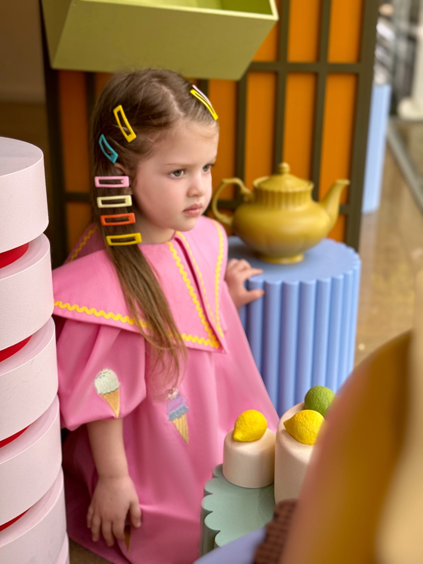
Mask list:
[[[108,547],[114,538],[125,540],[125,519],[129,512],[133,527],[141,526],[141,509],[135,486],[128,474],[117,477],[99,476],[87,512],[87,527],[92,540],[100,539],[100,529]]]

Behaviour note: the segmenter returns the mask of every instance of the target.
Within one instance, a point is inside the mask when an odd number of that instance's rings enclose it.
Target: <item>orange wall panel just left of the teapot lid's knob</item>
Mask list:
[[[250,72],[247,79],[245,184],[272,174],[275,138],[276,75]]]

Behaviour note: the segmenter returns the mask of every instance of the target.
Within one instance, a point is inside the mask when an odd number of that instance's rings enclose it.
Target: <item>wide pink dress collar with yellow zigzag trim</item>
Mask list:
[[[226,351],[220,310],[227,257],[222,226],[200,217],[192,231],[176,232],[167,243],[140,248],[158,276],[186,346]],[[53,271],[53,288],[55,315],[138,332],[94,224],[83,233],[67,262]]]

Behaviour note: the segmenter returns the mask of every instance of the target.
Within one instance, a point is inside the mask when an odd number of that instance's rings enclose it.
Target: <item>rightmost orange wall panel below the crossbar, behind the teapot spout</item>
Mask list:
[[[321,146],[320,198],[338,178],[349,178],[357,77],[355,74],[329,74]],[[341,201],[347,201],[344,188]]]

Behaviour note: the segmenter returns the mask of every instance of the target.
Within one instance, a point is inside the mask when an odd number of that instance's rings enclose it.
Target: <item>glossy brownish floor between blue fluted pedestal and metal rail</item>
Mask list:
[[[391,152],[386,152],[380,209],[364,215],[356,363],[411,327],[413,277],[423,268],[423,215]]]

